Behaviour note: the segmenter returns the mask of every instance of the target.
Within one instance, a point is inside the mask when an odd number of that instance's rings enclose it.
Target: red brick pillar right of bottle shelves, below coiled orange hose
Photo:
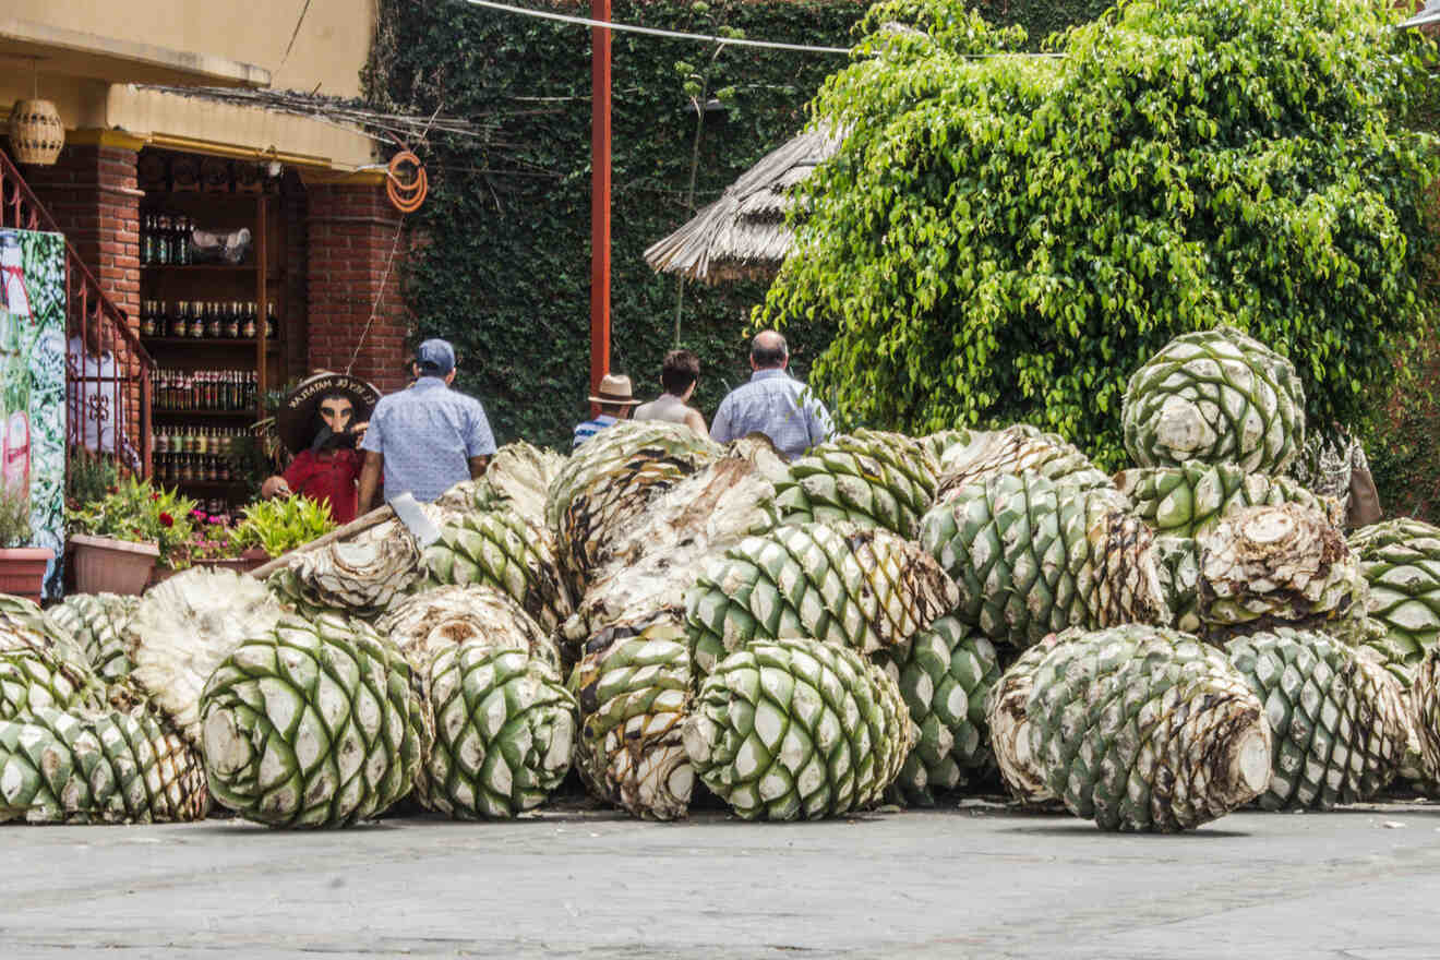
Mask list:
[[[409,332],[399,289],[406,252],[403,235],[396,246],[400,214],[373,184],[314,184],[307,201],[310,368],[344,370],[359,344],[350,371],[382,391],[397,390],[406,380]]]

